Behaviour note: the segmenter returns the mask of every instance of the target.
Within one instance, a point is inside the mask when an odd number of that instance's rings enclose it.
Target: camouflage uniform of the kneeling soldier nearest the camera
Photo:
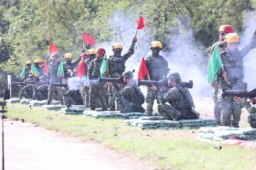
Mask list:
[[[191,95],[190,97],[186,95],[189,93],[186,88],[178,84],[170,88],[166,94],[158,89],[154,92],[160,102],[157,107],[159,116],[165,117],[166,120],[197,119],[190,104],[193,103],[193,99]],[[170,105],[164,104],[166,102]]]

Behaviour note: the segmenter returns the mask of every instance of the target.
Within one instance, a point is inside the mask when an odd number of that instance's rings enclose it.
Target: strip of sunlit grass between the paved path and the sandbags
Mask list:
[[[81,115],[62,115],[41,108],[29,109],[27,105],[7,104],[9,119],[23,118],[41,127],[83,141],[94,141],[125,155],[154,162],[164,170],[253,170],[256,169],[255,150],[238,146],[196,140],[198,130],[141,130],[126,127],[120,119],[90,119]],[[245,125],[242,125],[245,126]]]

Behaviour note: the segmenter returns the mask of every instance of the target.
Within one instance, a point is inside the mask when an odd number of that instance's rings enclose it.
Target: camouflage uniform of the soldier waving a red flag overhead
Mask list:
[[[128,49],[127,53],[123,56],[109,56],[108,58],[108,69],[109,75],[111,78],[118,78],[122,75],[122,72],[125,71],[125,62],[126,60],[134,54],[134,45],[135,43],[132,42],[130,48]],[[107,77],[106,73],[103,74],[104,77]],[[107,96],[108,96],[108,106],[110,110],[115,110],[115,97],[112,92],[112,86],[107,87]]]

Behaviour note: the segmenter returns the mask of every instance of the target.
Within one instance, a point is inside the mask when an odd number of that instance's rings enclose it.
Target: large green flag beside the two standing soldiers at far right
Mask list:
[[[211,83],[217,77],[217,71],[221,69],[222,61],[218,52],[218,47],[215,46],[210,57],[207,73],[207,83]]]

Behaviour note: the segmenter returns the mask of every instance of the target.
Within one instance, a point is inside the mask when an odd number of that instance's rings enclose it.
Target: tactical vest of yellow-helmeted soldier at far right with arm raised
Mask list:
[[[235,50],[236,51],[236,50]],[[229,81],[236,81],[243,79],[243,63],[242,58],[236,55],[235,51],[228,52],[223,57],[221,56],[224,69],[226,71],[226,77]]]

